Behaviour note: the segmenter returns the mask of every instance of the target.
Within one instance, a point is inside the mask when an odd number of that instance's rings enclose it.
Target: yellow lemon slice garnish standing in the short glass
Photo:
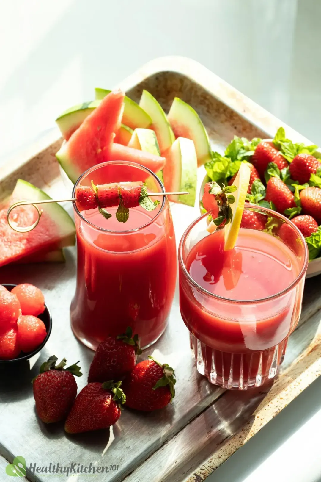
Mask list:
[[[244,210],[244,202],[246,199],[246,193],[248,185],[250,183],[251,169],[248,164],[242,162],[239,172],[234,179],[232,186],[236,186],[236,191],[233,192],[235,202],[231,204],[231,210],[233,213],[231,223],[227,224],[224,228],[225,244],[224,250],[228,251],[233,249],[239,234],[242,215]]]

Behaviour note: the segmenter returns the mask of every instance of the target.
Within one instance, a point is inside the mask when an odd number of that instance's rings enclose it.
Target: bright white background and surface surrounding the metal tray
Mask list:
[[[192,57],[321,145],[319,0],[0,1],[0,158],[154,57]],[[321,381],[207,480],[321,481]]]

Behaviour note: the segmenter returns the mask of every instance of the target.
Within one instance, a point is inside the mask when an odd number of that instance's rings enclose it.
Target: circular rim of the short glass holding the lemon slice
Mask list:
[[[239,305],[254,305],[256,303],[262,303],[264,301],[271,301],[273,299],[279,298],[282,295],[285,295],[286,293],[291,291],[299,283],[299,281],[301,281],[301,279],[305,275],[305,273],[307,271],[307,268],[308,268],[308,245],[307,245],[301,231],[295,226],[295,224],[292,223],[292,221],[290,219],[283,216],[283,214],[277,213],[276,211],[273,211],[272,209],[263,208],[261,206],[255,206],[253,204],[252,205],[250,204],[248,206],[244,206],[244,209],[249,209],[249,210],[252,210],[252,211],[255,210],[255,211],[263,212],[264,214],[271,214],[274,217],[279,217],[280,219],[285,221],[288,225],[290,225],[291,228],[293,228],[295,230],[296,234],[299,236],[299,238],[303,242],[303,250],[304,250],[303,266],[302,266],[299,274],[295,278],[295,280],[292,281],[292,283],[287,288],[285,288],[284,290],[276,293],[275,295],[266,296],[265,298],[259,298],[259,299],[255,299],[255,300],[253,300],[253,299],[251,299],[251,300],[234,300],[232,298],[225,298],[224,296],[215,295],[214,293],[211,293],[210,291],[207,291],[205,288],[200,286],[196,281],[194,281],[192,276],[190,275],[190,273],[187,271],[185,263],[183,261],[183,254],[182,254],[183,244],[185,243],[186,238],[187,238],[188,234],[190,233],[191,229],[193,229],[193,227],[198,222],[200,222],[202,219],[207,217],[208,213],[205,213],[205,214],[202,214],[201,216],[199,216],[184,231],[184,234],[180,239],[180,244],[179,244],[179,249],[178,249],[178,258],[179,258],[179,267],[182,269],[182,272],[183,272],[185,278],[187,279],[187,281],[192,283],[195,286],[195,288],[197,288],[204,295],[210,296],[211,298],[217,299],[217,300],[220,300],[220,301],[226,301],[226,302],[229,302],[229,303],[235,303],[235,304],[239,304]]]

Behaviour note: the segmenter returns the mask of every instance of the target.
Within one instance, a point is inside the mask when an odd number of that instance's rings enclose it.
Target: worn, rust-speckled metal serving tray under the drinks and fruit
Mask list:
[[[106,86],[108,87],[108,86]],[[247,99],[205,67],[182,57],[156,59],[124,80],[120,87],[134,100],[150,91],[168,110],[175,96],[200,114],[213,148],[222,150],[234,134],[273,137],[281,121]],[[283,124],[284,125],[284,124]],[[309,142],[290,127],[287,135]],[[51,196],[63,196],[66,187],[54,154],[61,145],[51,132],[0,169],[0,201],[22,177]],[[199,185],[204,177],[199,169]],[[70,209],[70,206],[67,207]],[[199,215],[198,207],[172,205],[177,241]],[[306,282],[301,319],[291,335],[282,371],[272,386],[247,392],[224,391],[207,382],[194,367],[188,331],[180,317],[176,291],[169,326],[161,339],[143,353],[153,354],[176,369],[177,396],[166,409],[144,414],[124,410],[110,430],[66,436],[63,425],[45,426],[35,415],[31,380],[48,356],[80,360],[86,384],[93,353],[72,335],[69,305],[75,290],[76,248],[66,250],[66,264],[12,265],[0,269],[0,282],[31,282],[39,286],[52,311],[53,327],[46,347],[18,370],[0,371],[0,480],[6,480],[6,460],[22,455],[27,467],[76,463],[107,466],[96,474],[107,482],[202,481],[251,438],[321,373],[320,277]],[[111,470],[114,466],[114,470]],[[116,466],[116,469],[115,469]],[[62,475],[27,471],[30,481],[60,481]],[[85,473],[65,480],[90,480]]]

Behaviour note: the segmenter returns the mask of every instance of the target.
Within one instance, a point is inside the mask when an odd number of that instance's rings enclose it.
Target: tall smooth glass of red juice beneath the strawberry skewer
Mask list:
[[[149,192],[164,192],[159,178],[139,164],[113,161],[82,174],[77,185],[143,181]],[[75,188],[76,188],[75,186]],[[75,195],[75,188],[73,196]],[[77,230],[77,286],[70,317],[74,334],[96,349],[108,335],[130,326],[141,347],[152,345],[167,326],[174,297],[177,260],[175,235],[165,196],[147,212],[129,209],[126,223],[116,220],[116,207],[105,219],[98,209],[79,212]]]

